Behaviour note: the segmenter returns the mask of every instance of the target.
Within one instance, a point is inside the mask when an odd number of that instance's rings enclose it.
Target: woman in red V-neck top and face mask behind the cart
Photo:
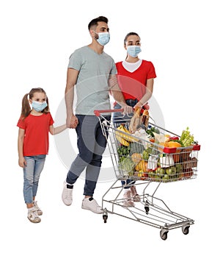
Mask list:
[[[127,51],[125,60],[116,63],[117,78],[122,90],[125,101],[133,108],[140,107],[149,109],[147,101],[153,93],[153,82],[156,77],[153,63],[147,60],[139,59],[138,54],[141,50],[141,38],[136,32],[130,32],[125,36],[124,47]],[[114,109],[120,109],[117,102],[114,103]],[[123,117],[128,118],[128,115]],[[130,117],[131,118],[131,117]],[[122,115],[114,113],[114,123],[122,123]],[[124,206],[132,207],[133,202],[139,202],[140,197],[136,193],[134,182],[127,179],[124,193]],[[125,181],[122,181],[125,185]]]

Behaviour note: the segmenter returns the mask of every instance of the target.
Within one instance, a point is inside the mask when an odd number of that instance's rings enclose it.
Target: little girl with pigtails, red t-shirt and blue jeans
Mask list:
[[[32,109],[30,107],[32,105]],[[21,117],[18,121],[18,165],[23,168],[23,197],[29,221],[41,221],[42,210],[35,201],[40,173],[48,154],[48,132],[56,135],[66,124],[54,128],[49,112],[48,97],[42,88],[33,88],[23,96]]]

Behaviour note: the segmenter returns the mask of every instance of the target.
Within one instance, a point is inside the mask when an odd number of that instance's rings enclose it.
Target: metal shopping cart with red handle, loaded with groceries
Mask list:
[[[122,110],[95,110],[107,139],[116,175],[116,181],[103,195],[103,221],[106,223],[108,213],[114,213],[160,229],[163,240],[166,240],[169,230],[179,227],[187,235],[194,220],[170,210],[162,199],[155,196],[155,192],[163,183],[197,177],[199,144],[168,147],[166,138],[180,136],[158,127],[154,122],[149,122],[147,127],[141,124],[136,132],[128,133],[130,118],[117,123],[106,120],[105,116],[114,112]],[[155,131],[157,139],[153,140],[148,134],[152,131]],[[158,143],[160,138],[165,138],[164,143]],[[130,183],[122,185],[121,181],[128,179]],[[128,199],[123,198],[122,191],[125,186],[133,185],[133,182],[142,193],[139,193],[139,202],[135,202],[135,206],[125,207],[125,200]],[[150,193],[152,185],[153,191]]]

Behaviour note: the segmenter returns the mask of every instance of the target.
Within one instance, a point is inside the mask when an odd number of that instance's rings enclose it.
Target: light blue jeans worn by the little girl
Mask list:
[[[45,154],[24,157],[26,166],[23,168],[23,198],[26,204],[33,202],[37,195],[38,182],[45,163]]]

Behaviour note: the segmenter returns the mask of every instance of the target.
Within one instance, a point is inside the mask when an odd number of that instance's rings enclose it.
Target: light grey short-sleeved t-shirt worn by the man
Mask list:
[[[94,110],[109,110],[109,74],[117,74],[114,60],[105,52],[98,54],[84,46],[70,55],[68,68],[79,71],[76,114],[94,115]]]

